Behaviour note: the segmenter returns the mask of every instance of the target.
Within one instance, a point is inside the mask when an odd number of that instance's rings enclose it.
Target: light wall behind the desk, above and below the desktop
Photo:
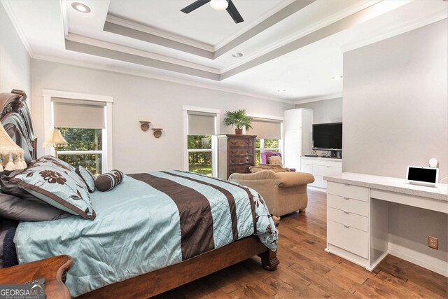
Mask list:
[[[448,176],[447,34],[443,20],[344,53],[344,172],[404,178],[407,165],[437,158]],[[402,258],[446,266],[447,227],[447,214],[389,204],[389,242]]]

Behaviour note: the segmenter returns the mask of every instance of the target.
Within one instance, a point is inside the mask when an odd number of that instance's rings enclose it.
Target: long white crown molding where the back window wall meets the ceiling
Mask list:
[[[64,58],[59,58],[59,57],[50,57],[50,56],[45,56],[45,55],[40,55],[40,54],[35,54],[33,59],[35,60],[43,60],[43,61],[48,61],[48,62],[56,62],[56,63],[60,63],[60,64],[68,64],[74,67],[84,67],[86,69],[97,69],[99,71],[111,71],[112,73],[118,73],[118,74],[127,74],[127,75],[131,75],[131,76],[138,76],[138,77],[143,77],[143,78],[151,78],[151,79],[155,79],[155,80],[160,80],[160,81],[167,81],[167,82],[172,82],[172,83],[179,83],[179,84],[183,84],[183,85],[190,85],[190,86],[194,86],[197,88],[205,88],[205,89],[209,89],[209,90],[217,90],[217,91],[222,91],[222,92],[230,92],[233,93],[235,95],[244,95],[247,97],[255,97],[258,99],[266,99],[269,101],[274,101],[274,102],[282,102],[282,103],[286,103],[286,104],[295,104],[293,101],[287,100],[287,99],[279,99],[276,97],[268,97],[265,95],[259,95],[256,94],[254,92],[244,92],[242,90],[236,90],[233,88],[225,88],[225,87],[221,87],[221,86],[216,86],[216,85],[211,85],[211,84],[207,84],[207,83],[200,83],[197,81],[191,81],[191,80],[187,80],[187,79],[182,79],[182,78],[174,78],[174,77],[170,77],[170,76],[163,76],[160,74],[149,74],[147,71],[134,71],[131,69],[125,69],[122,67],[114,67],[114,66],[110,66],[110,65],[102,65],[102,64],[94,64],[94,63],[89,63],[89,62],[76,62],[74,60],[68,60],[68,59],[64,59]]]

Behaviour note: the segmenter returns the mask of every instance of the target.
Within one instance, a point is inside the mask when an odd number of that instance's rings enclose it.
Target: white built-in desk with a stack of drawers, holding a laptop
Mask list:
[[[351,172],[323,179],[328,181],[325,251],[370,271],[389,253],[389,202],[448,214],[446,184],[436,188],[416,186],[404,179]],[[412,262],[448,276],[448,264],[444,261],[433,262],[434,265],[427,260]]]

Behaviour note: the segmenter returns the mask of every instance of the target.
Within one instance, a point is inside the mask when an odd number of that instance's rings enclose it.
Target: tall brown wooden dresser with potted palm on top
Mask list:
[[[218,176],[228,179],[230,174],[251,172],[255,166],[256,135],[218,135]]]

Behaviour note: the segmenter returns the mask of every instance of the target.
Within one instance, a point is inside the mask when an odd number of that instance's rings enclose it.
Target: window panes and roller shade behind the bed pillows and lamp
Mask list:
[[[106,113],[104,102],[76,99],[52,99],[54,126],[66,139],[67,146],[57,148],[58,158],[92,174],[106,170]]]

